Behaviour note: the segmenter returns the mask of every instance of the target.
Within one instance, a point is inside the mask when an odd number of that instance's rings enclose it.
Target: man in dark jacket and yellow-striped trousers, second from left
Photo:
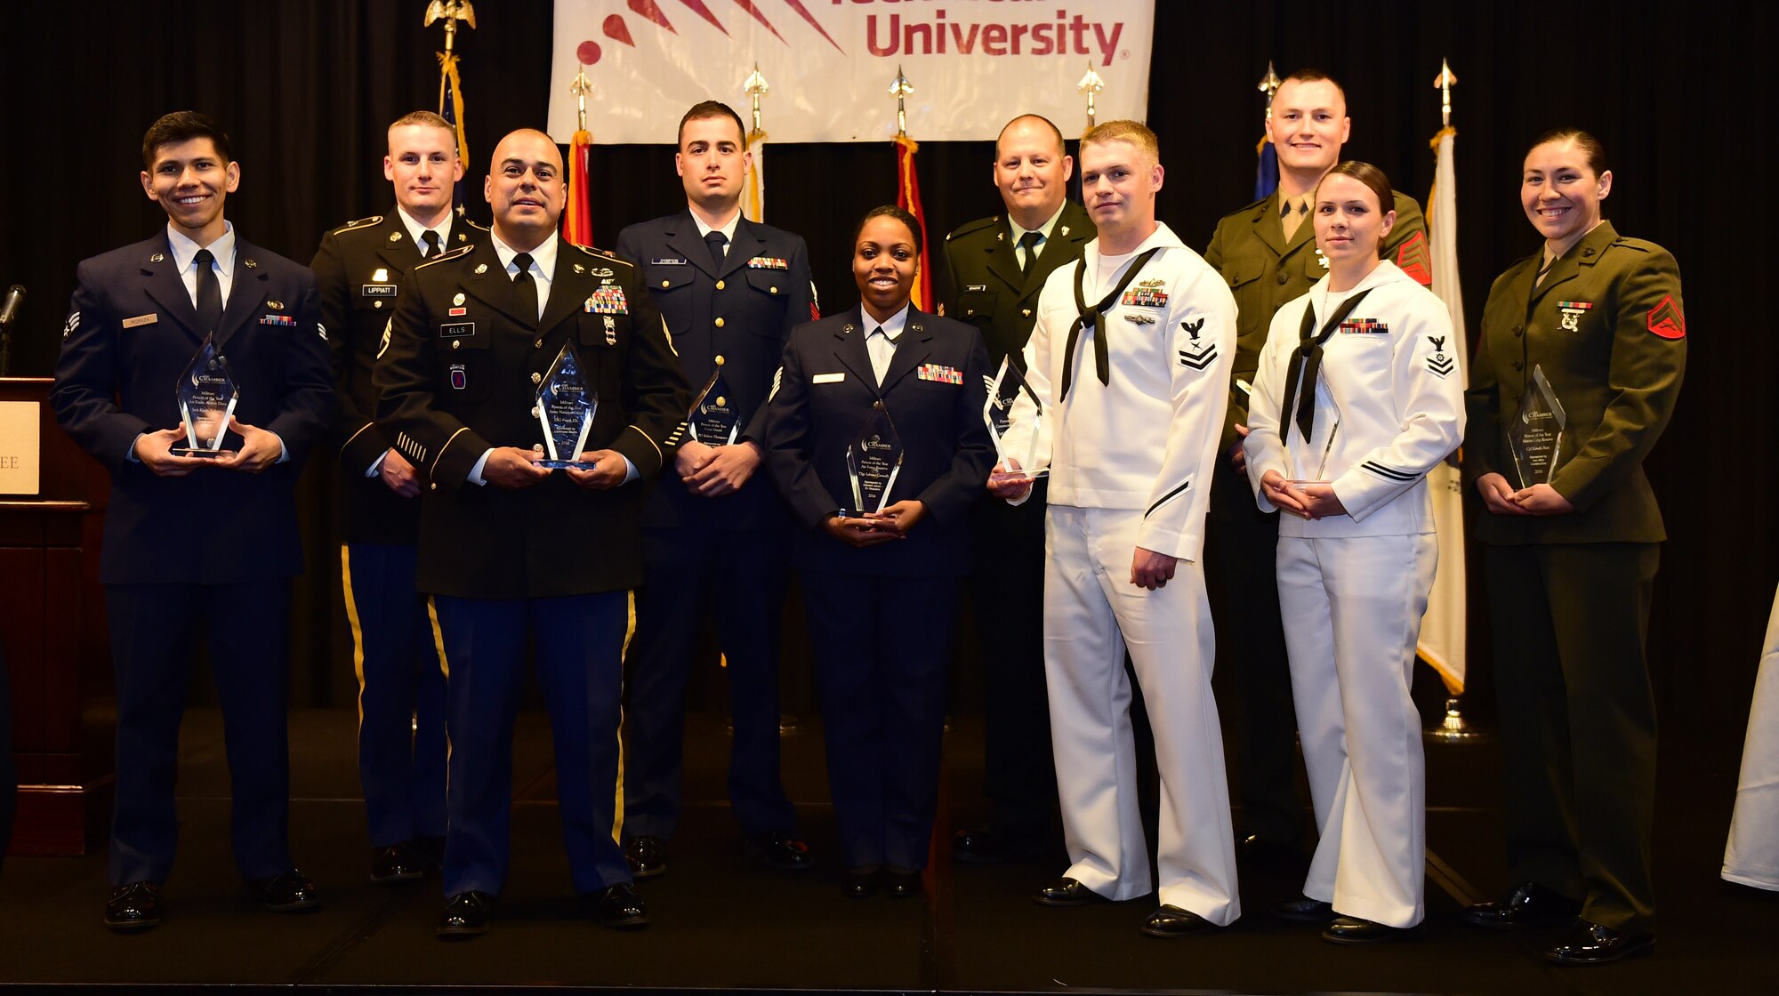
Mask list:
[[[370,880],[416,879],[445,847],[445,672],[425,598],[415,592],[420,480],[372,418],[370,382],[402,277],[487,229],[455,217],[457,135],[429,110],[390,124],[382,176],[395,208],[329,231],[315,288],[334,374],[334,521],[352,658],[358,663],[358,774],[370,829]]]

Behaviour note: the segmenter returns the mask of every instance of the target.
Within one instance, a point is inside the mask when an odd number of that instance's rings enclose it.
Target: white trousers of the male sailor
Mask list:
[[[1044,676],[1071,879],[1112,900],[1149,891],[1124,649],[1155,727],[1162,774],[1160,902],[1224,927],[1242,914],[1211,699],[1217,640],[1204,569],[1165,587],[1130,582],[1142,510],[1051,505],[1046,519]]]

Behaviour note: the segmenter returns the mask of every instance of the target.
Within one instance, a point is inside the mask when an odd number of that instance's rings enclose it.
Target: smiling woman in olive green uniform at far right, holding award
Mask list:
[[[1656,729],[1644,637],[1667,537],[1642,461],[1686,366],[1679,267],[1599,219],[1599,142],[1546,135],[1521,203],[1544,249],[1489,292],[1471,363],[1464,480],[1482,496],[1507,861],[1517,886],[1468,918],[1564,921],[1546,957],[1598,964],[1654,944]],[[1509,429],[1542,372],[1567,416],[1548,482],[1526,482]]]

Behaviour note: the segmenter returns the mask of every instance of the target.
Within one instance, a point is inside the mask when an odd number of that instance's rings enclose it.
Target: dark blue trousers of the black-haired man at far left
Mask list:
[[[197,630],[222,703],[235,864],[242,879],[288,872],[290,580],[107,585],[105,617],[117,679],[112,884],[164,882],[173,870],[173,784]]]

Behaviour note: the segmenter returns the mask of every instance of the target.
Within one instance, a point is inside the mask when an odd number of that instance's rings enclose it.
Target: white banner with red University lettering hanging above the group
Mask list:
[[[1146,117],[1153,37],[1155,0],[557,0],[550,133],[575,133],[578,64],[601,144],[672,144],[701,100],[745,119],[742,80],[758,64],[776,142],[891,141],[898,66],[922,141],[994,139],[1028,112],[1073,137],[1089,68],[1105,80],[1099,121]]]

